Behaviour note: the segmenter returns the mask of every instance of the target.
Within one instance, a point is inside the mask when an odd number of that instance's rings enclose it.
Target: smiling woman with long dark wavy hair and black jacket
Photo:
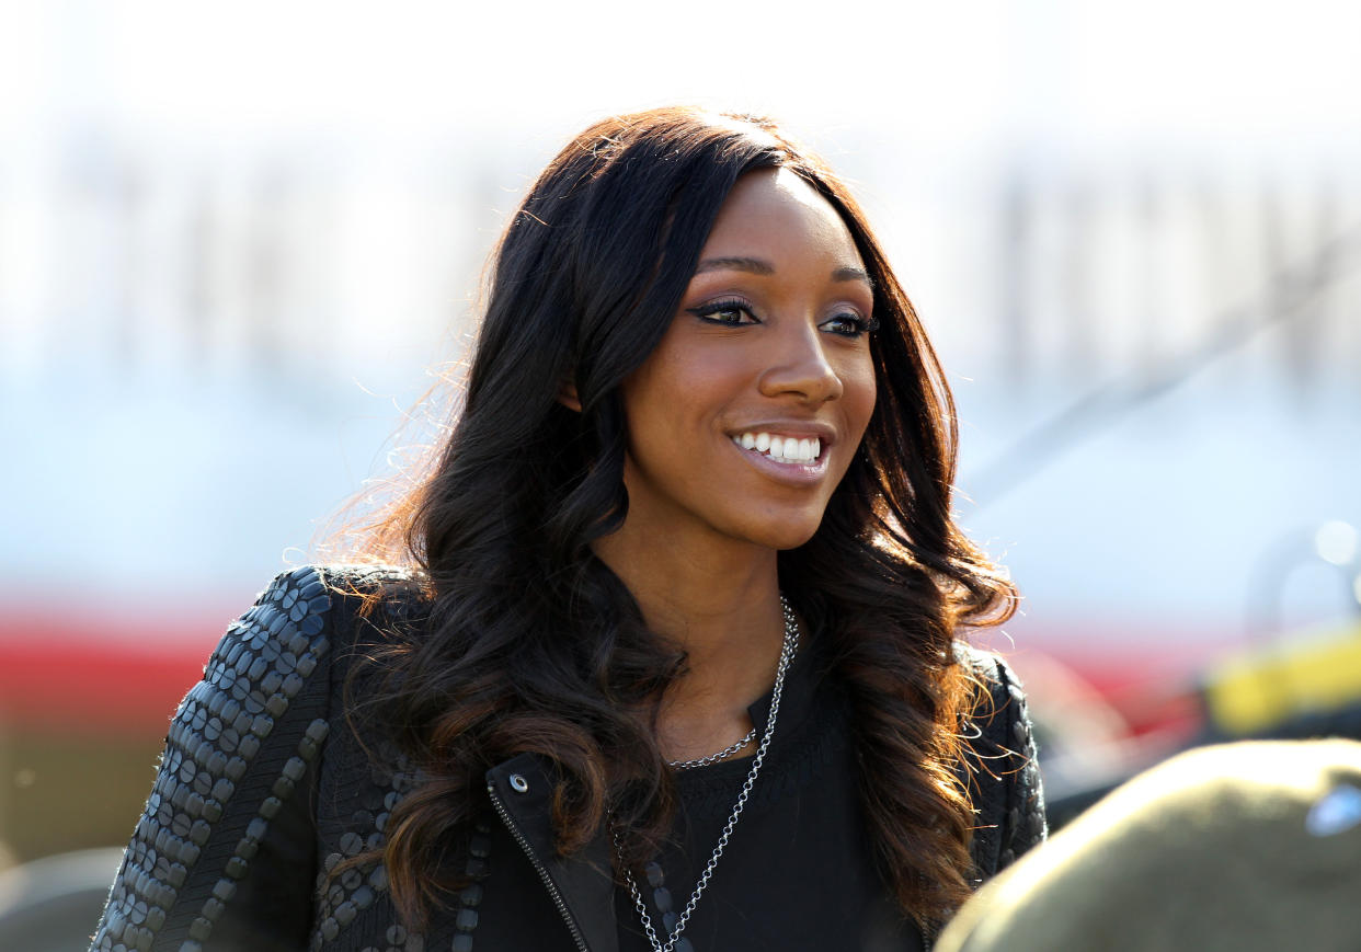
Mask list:
[[[95,949],[923,948],[1043,836],[1013,590],[847,189],[606,120],[495,256],[457,423],[181,704]]]

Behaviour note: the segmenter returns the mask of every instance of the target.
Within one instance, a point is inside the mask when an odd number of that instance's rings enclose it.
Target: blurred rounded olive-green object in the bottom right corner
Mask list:
[[[1356,952],[1358,857],[1361,744],[1198,748],[984,885],[936,952]]]

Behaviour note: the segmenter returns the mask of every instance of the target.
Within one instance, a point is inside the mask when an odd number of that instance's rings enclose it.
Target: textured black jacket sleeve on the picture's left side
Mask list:
[[[306,948],[332,598],[274,579],[176,711],[91,952]]]

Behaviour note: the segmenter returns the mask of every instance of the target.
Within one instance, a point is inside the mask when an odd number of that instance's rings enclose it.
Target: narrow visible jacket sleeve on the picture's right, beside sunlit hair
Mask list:
[[[991,879],[1044,840],[1044,785],[1021,681],[996,656],[966,653],[987,688],[965,725],[962,779],[977,817],[973,843],[977,880]]]

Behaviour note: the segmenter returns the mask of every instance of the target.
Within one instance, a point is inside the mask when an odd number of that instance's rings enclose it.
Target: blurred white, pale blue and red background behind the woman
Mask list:
[[[127,840],[226,623],[403,457],[538,170],[668,102],[856,185],[1025,593],[981,638],[1056,821],[1200,740],[1357,730],[1357,35],[1320,0],[0,0],[0,910]]]

